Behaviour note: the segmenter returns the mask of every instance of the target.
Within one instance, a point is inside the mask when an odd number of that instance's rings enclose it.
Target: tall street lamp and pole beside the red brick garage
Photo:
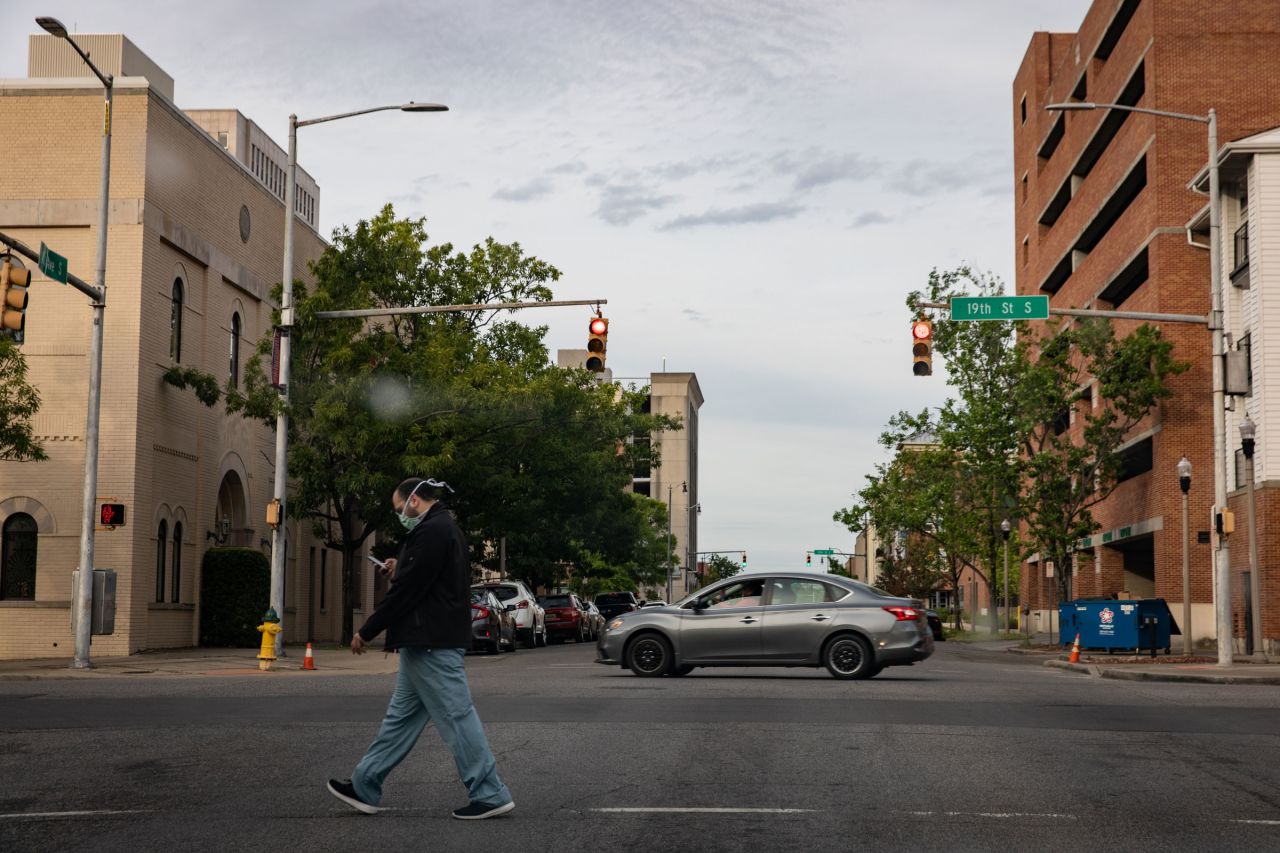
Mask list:
[[[1162,118],[1199,122],[1208,126],[1208,263],[1210,263],[1210,329],[1213,332],[1213,514],[1226,511],[1226,411],[1222,383],[1222,195],[1217,169],[1217,111],[1208,115],[1170,113],[1125,104],[1093,104],[1078,101],[1050,104],[1047,110],[1121,110]],[[1217,529],[1217,525],[1213,525]],[[1217,535],[1213,575],[1213,617],[1217,633],[1217,665],[1230,666],[1231,648],[1231,555],[1228,537]]]

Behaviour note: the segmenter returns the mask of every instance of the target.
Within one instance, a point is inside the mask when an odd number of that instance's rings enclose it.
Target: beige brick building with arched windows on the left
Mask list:
[[[270,332],[285,159],[236,110],[177,108],[173,81],[123,36],[76,38],[124,74],[113,110],[99,497],[127,505],[128,521],[96,534],[97,566],[119,574],[115,633],[95,637],[92,653],[193,646],[204,552],[216,540],[269,551],[274,432],[161,377],[183,365],[234,379]],[[0,81],[0,120],[20,128],[5,136],[0,231],[47,243],[92,280],[102,88],[88,74],[64,42],[32,36],[29,77]],[[319,188],[298,175],[305,278],[324,242]],[[33,279],[23,351],[50,459],[0,462],[4,658],[70,657],[73,646],[91,314],[73,288]],[[339,606],[337,555],[291,524],[287,639],[335,638]]]

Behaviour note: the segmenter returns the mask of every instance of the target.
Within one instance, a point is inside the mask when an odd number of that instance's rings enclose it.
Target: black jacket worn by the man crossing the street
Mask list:
[[[471,564],[457,521],[435,503],[396,558],[396,579],[360,629],[367,643],[387,631],[387,651],[471,646]]]

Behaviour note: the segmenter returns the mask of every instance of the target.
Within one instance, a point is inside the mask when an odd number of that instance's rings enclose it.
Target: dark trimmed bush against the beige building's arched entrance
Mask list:
[[[211,548],[200,570],[200,644],[253,648],[271,601],[271,564],[252,548]]]

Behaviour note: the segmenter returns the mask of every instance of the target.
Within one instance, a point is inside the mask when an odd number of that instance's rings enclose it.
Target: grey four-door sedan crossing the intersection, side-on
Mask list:
[[[867,679],[923,661],[933,634],[922,602],[840,575],[740,574],[667,607],[605,626],[596,663],[636,675],[687,675],[699,666],[824,666]]]

